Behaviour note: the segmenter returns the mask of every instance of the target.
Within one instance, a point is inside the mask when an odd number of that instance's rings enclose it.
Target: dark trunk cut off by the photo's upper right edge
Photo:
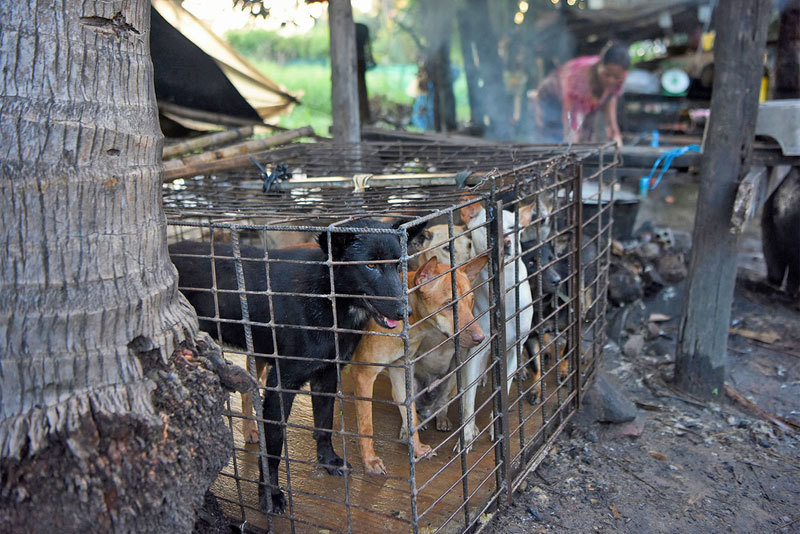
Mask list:
[[[786,1],[781,11],[773,97],[800,98],[800,0]]]

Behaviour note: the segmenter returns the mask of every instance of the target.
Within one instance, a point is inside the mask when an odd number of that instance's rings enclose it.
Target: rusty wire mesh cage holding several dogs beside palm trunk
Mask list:
[[[604,343],[608,148],[295,145],[165,184],[180,289],[260,380],[231,521],[460,532],[510,501]]]

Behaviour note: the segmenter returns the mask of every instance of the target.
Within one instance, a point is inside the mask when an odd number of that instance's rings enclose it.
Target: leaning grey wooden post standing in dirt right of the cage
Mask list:
[[[701,398],[724,393],[738,239],[731,216],[750,166],[770,0],[726,0],[716,13],[714,92],[700,165],[675,382]]]

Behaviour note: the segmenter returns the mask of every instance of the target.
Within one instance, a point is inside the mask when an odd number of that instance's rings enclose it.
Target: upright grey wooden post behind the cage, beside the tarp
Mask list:
[[[331,29],[333,140],[358,143],[361,121],[358,117],[355,23],[350,0],[330,0],[328,18]]]

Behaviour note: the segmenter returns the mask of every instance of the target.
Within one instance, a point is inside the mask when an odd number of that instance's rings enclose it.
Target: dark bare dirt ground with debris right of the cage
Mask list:
[[[683,191],[690,199],[691,189]],[[675,210],[649,213],[661,224],[691,224]],[[797,425],[800,311],[760,281],[757,228],[741,243],[727,385]],[[682,285],[668,290],[680,295]],[[674,390],[680,299],[669,310],[646,304],[673,317],[662,334],[632,356],[611,343],[603,361],[636,403],[636,420],[601,424],[578,414],[488,532],[800,532],[798,427],[782,430],[729,395],[702,402]]]

